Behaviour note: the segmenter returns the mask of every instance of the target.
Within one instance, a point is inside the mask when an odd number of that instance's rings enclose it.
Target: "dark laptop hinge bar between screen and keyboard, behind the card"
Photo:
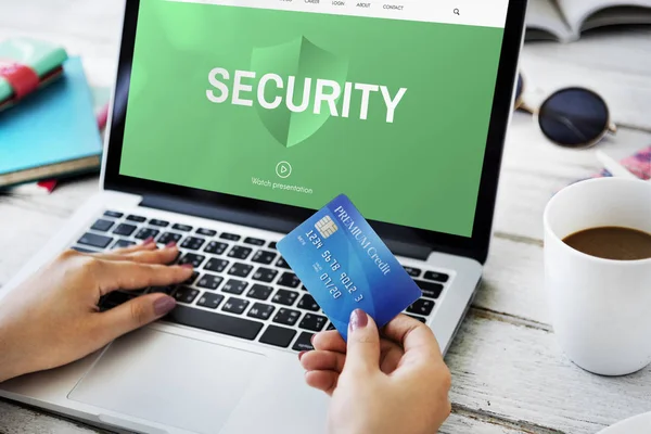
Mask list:
[[[296,219],[292,219],[291,216],[281,219],[256,213],[239,212],[226,206],[207,205],[197,201],[188,201],[156,194],[143,196],[140,206],[207,218],[216,221],[248,226],[280,233],[291,232],[301,222]],[[396,256],[426,260],[432,253],[432,248],[423,245],[414,245],[387,238],[383,238],[383,241]]]

